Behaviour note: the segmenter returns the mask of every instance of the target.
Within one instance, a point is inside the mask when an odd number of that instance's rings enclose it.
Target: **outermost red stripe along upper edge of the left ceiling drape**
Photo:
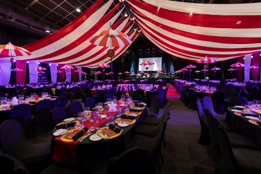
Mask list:
[[[23,46],[23,48],[32,52],[40,48],[43,48],[45,46],[48,46],[51,43],[54,43],[55,41],[63,38],[70,32],[74,31],[77,27],[79,27],[84,21],[86,21],[86,19],[88,19],[94,13],[94,11],[99,7],[102,1],[103,0],[97,0],[90,8],[88,8],[84,13],[82,13],[77,19],[69,23],[67,26],[61,28],[59,31],[41,40],[38,40],[32,44],[25,45]]]

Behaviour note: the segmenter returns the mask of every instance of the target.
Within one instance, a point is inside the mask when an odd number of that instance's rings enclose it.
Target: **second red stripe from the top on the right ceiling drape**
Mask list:
[[[219,43],[234,43],[234,44],[255,44],[260,43],[261,37],[255,37],[255,38],[246,38],[246,37],[220,37],[220,36],[210,36],[210,35],[203,35],[203,34],[195,34],[195,33],[189,33],[186,31],[182,31],[179,29],[171,28],[169,26],[163,25],[160,22],[154,21],[137,10],[133,9],[136,13],[138,13],[141,17],[146,19],[147,21],[151,22],[153,25],[160,26],[162,29],[169,31],[174,34],[178,34],[187,38],[197,39],[197,40],[204,40],[204,41],[210,41],[210,42],[219,42]]]

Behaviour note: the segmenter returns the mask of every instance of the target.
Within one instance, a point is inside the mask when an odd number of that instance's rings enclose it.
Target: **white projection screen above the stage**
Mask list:
[[[146,67],[149,67],[148,71],[161,71],[161,61],[162,57],[151,57],[147,58],[148,61],[152,61],[154,65],[140,65],[140,63],[146,61],[146,58],[139,58],[139,71],[146,71]]]

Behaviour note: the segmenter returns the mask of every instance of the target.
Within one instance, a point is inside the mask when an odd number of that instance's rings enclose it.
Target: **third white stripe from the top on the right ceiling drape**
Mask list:
[[[178,34],[174,34],[171,33],[169,31],[166,31],[156,25],[153,25],[151,22],[143,19],[140,16],[137,16],[139,19],[141,19],[141,21],[143,21],[147,26],[151,27],[152,29],[155,29],[156,31],[158,31],[159,33],[162,33],[170,38],[185,42],[185,43],[189,43],[189,44],[193,44],[193,45],[200,45],[200,46],[206,46],[206,47],[217,47],[217,48],[251,48],[251,47],[261,47],[261,43],[257,43],[257,44],[226,44],[226,43],[217,43],[217,42],[210,42],[210,41],[203,41],[203,40],[197,40],[197,39],[191,39],[191,38],[187,38],[185,36],[181,36]],[[142,25],[139,21],[137,21],[139,23],[139,25]],[[148,29],[147,27],[144,26],[144,28]],[[149,30],[149,29],[148,29]]]

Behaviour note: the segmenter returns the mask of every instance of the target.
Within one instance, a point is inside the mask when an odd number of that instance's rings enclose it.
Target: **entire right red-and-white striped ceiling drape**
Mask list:
[[[224,61],[261,50],[261,3],[143,1],[127,1],[141,31],[173,56]]]

